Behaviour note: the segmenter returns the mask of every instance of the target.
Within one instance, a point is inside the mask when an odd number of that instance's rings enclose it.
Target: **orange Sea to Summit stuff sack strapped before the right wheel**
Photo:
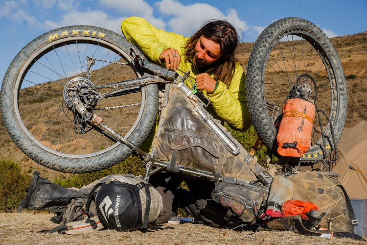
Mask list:
[[[283,106],[283,118],[276,142],[282,156],[301,157],[311,147],[315,105],[303,98],[290,98]]]

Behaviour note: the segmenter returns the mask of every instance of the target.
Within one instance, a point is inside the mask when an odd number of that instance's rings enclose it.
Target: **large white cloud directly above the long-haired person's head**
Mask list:
[[[223,13],[218,8],[206,3],[183,5],[175,0],[161,0],[156,4],[162,14],[173,16],[168,21],[170,29],[184,36],[191,36],[207,20],[211,19],[227,20],[241,31],[247,31],[249,28],[246,22],[240,20],[234,9],[229,9]]]

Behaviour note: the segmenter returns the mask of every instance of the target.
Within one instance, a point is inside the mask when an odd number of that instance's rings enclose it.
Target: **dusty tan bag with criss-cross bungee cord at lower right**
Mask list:
[[[281,212],[281,204],[291,199],[311,202],[318,206],[320,213],[328,211],[321,219],[322,227],[332,232],[353,232],[353,209],[337,176],[333,172],[302,172],[290,176],[275,176],[269,192],[267,210]],[[280,224],[281,219],[283,218],[269,221],[268,227],[287,229]]]

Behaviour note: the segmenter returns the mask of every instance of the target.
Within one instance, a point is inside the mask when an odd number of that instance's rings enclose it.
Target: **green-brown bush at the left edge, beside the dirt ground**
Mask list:
[[[12,160],[0,160],[0,211],[14,211],[18,208],[31,178]]]

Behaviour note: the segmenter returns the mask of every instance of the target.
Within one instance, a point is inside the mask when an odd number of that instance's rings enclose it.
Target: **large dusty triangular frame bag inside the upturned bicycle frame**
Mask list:
[[[240,153],[237,156],[232,155],[210,127],[193,111],[194,107],[176,85],[166,85],[160,122],[152,144],[156,157],[170,161],[169,170],[172,172],[180,164],[214,172],[214,181],[218,180],[219,174],[248,181],[256,180],[244,160],[248,152],[237,142],[241,147]]]

